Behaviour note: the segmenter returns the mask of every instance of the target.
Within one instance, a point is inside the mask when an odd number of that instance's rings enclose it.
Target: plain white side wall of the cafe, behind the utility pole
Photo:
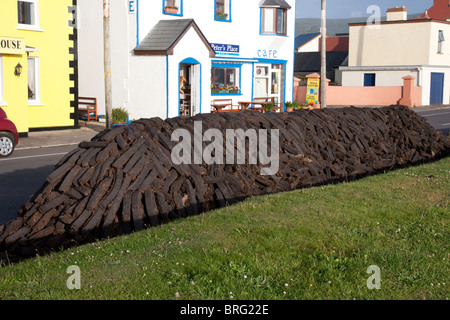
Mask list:
[[[78,66],[80,96],[97,98],[105,114],[103,2],[78,0]],[[111,80],[113,108],[130,109],[130,52],[136,46],[136,15],[128,0],[111,1]]]

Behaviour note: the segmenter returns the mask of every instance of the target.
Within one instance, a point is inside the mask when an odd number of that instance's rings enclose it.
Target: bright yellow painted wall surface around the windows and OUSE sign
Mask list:
[[[28,132],[29,128],[68,127],[74,125],[70,114],[74,112],[70,101],[74,99],[70,88],[74,86],[69,75],[73,69],[69,61],[73,55],[69,48],[73,42],[69,34],[73,29],[68,21],[71,14],[68,7],[72,0],[39,0],[39,30],[21,30],[18,28],[17,0],[2,0],[0,10],[0,36],[24,38],[28,47],[38,51],[29,55],[40,60],[40,103],[29,106],[27,55],[3,54],[4,108],[8,118],[18,127],[19,132]],[[14,75],[14,67],[23,66],[20,77]]]

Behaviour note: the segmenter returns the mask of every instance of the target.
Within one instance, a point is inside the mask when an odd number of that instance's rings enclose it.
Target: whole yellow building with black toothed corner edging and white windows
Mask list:
[[[1,0],[0,107],[19,133],[77,127],[76,0]]]

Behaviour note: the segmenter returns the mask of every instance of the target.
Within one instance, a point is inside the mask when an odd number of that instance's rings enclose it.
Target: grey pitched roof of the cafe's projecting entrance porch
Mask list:
[[[194,19],[174,19],[161,20],[152,30],[145,36],[145,38],[134,49],[135,52],[168,52],[173,49],[178,40],[184,35],[187,29],[194,26],[199,36],[205,42],[209,49],[214,50],[209,45],[203,33],[198,28]]]

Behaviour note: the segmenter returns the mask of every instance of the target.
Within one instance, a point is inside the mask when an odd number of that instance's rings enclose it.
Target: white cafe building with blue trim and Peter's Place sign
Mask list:
[[[80,96],[102,113],[103,7],[78,8]],[[294,34],[294,0],[111,0],[113,107],[164,119],[214,99],[292,100]]]

